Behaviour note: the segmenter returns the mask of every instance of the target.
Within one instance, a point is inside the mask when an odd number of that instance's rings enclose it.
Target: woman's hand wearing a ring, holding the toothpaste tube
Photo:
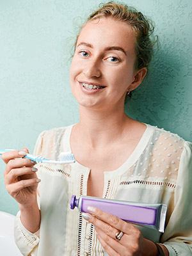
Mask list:
[[[154,255],[158,254],[156,244],[145,239],[140,230],[114,215],[100,211],[95,207],[88,207],[92,214],[84,214],[85,220],[95,226],[97,238],[110,256],[125,255]],[[116,239],[116,236],[123,236]]]

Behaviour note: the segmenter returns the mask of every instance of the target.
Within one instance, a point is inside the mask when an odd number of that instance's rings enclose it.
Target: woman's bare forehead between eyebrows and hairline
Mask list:
[[[95,47],[119,46],[135,52],[136,36],[125,22],[107,17],[88,21],[79,34],[77,45],[79,42]]]

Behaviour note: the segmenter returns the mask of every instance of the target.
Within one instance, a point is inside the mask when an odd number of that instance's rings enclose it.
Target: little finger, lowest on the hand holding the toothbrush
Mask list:
[[[10,184],[6,186],[6,190],[11,196],[14,196],[17,194],[21,189],[28,188],[30,186],[37,186],[37,184],[40,182],[40,179],[28,179],[28,180],[20,180],[18,182],[15,182],[13,184]]]

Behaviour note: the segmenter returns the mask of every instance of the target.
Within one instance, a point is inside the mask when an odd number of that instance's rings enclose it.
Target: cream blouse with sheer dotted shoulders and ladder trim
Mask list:
[[[44,131],[35,146],[36,155],[58,159],[70,150],[72,126]],[[126,150],[126,149],[125,149]],[[122,166],[104,173],[104,198],[168,205],[164,234],[139,227],[143,236],[163,243],[170,256],[192,255],[192,143],[178,135],[147,125],[140,143]],[[118,156],[117,156],[118,157]],[[90,169],[80,163],[37,164],[41,226],[31,234],[15,219],[15,241],[23,255],[107,255],[92,224],[70,198],[86,195]],[[39,199],[39,196],[38,196]]]

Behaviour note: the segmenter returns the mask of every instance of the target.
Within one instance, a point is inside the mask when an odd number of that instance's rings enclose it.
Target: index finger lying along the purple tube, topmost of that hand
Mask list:
[[[90,207],[90,206],[88,207],[88,211],[94,214],[94,216],[96,216],[100,220],[116,228],[116,230],[120,230],[125,234],[132,235],[138,232],[138,228],[134,227],[130,223],[125,222],[124,220],[121,220],[120,218],[116,217],[113,214],[109,214],[107,212],[101,211],[98,208]]]

